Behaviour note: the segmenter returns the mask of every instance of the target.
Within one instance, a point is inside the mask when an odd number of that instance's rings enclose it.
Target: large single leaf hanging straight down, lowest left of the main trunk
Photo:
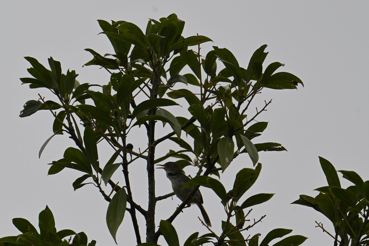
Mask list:
[[[117,235],[118,227],[123,221],[126,206],[127,195],[125,194],[125,190],[122,188],[114,194],[106,212],[106,223],[115,243],[117,243],[115,236]]]

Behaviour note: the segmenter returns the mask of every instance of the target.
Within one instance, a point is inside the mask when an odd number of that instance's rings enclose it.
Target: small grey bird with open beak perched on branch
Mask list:
[[[184,171],[182,170],[181,166],[178,163],[167,162],[164,165],[159,166],[161,167],[158,168],[162,168],[165,170],[166,177],[168,177],[170,182],[172,182],[172,188],[174,193],[177,195],[179,199],[181,199],[181,201],[184,201],[193,188],[186,188],[183,190],[181,189],[183,185],[190,180],[190,178],[186,176],[186,174],[184,173]],[[203,215],[204,222],[206,223],[206,225],[211,226],[209,216],[207,215],[204,209],[203,203],[204,203],[203,197],[201,196],[200,190],[198,189],[188,202],[187,206],[191,206],[191,204],[196,204],[200,208],[201,214]]]

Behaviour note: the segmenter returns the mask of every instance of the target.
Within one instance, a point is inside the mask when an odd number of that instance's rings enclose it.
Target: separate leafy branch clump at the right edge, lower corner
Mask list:
[[[333,224],[334,233],[317,225],[334,239],[334,245],[359,246],[369,243],[369,181],[363,181],[354,171],[339,170],[346,180],[354,185],[341,187],[337,171],[333,165],[319,157],[320,165],[327,178],[328,186],[315,189],[319,194],[314,198],[300,195],[294,204],[309,206],[323,213]]]

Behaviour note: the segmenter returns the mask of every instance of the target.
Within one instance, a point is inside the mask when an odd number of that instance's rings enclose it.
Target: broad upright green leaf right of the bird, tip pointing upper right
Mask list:
[[[261,164],[259,163],[255,169],[244,168],[236,175],[233,184],[233,197],[238,200],[245,194],[246,191],[255,183],[261,171]]]

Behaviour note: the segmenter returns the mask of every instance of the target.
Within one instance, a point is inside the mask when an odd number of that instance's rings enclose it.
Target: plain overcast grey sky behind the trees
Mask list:
[[[155,4],[154,4],[155,2]],[[352,170],[369,180],[368,149],[368,10],[367,1],[7,1],[2,3],[0,71],[1,90],[1,179],[0,179],[0,238],[17,235],[13,218],[26,218],[36,227],[38,213],[47,204],[56,218],[56,228],[84,231],[98,245],[113,245],[106,222],[107,202],[93,186],[76,192],[72,182],[79,173],[63,170],[47,176],[46,164],[62,157],[66,147],[74,144],[66,135],[56,136],[45,148],[41,159],[38,151],[52,135],[53,119],[48,112],[31,117],[18,114],[27,100],[38,99],[45,90],[29,89],[19,78],[28,77],[31,56],[47,65],[52,56],[61,61],[63,72],[75,69],[81,83],[105,84],[109,75],[97,67],[82,65],[91,59],[84,51],[92,48],[105,54],[112,51],[96,20],[125,20],[145,29],[148,18],[159,19],[171,13],[186,21],[185,37],[205,35],[220,48],[228,48],[240,66],[247,66],[255,51],[268,44],[265,65],[279,61],[286,64],[278,71],[292,72],[304,82],[298,90],[265,90],[254,103],[262,107],[263,100],[273,99],[268,111],[259,121],[268,121],[268,128],[254,143],[277,142],[288,152],[260,152],[263,164],[258,181],[245,196],[276,193],[265,204],[256,206],[250,219],[267,215],[249,233],[272,229],[293,229],[291,235],[304,235],[304,245],[331,245],[331,238],[315,228],[315,220],[332,231],[329,221],[313,209],[291,205],[300,194],[317,195],[313,189],[326,185],[318,156],[331,161],[337,170]],[[205,47],[206,48],[206,47]],[[50,98],[51,99],[51,98]],[[135,146],[138,140],[131,140]],[[166,153],[170,146],[163,144]],[[104,150],[104,149],[102,149]],[[106,153],[110,153],[106,149]],[[99,153],[100,163],[108,154]],[[222,179],[230,189],[235,171],[252,167],[247,156],[236,159]],[[233,167],[232,167],[233,166]],[[193,170],[185,170],[189,174]],[[141,172],[141,173],[140,173]],[[141,163],[131,174],[138,181],[145,173]],[[340,175],[341,176],[341,175]],[[228,178],[229,177],[229,178]],[[118,176],[117,176],[118,178]],[[164,172],[157,172],[157,195],[171,191]],[[343,185],[349,185],[343,182]],[[135,188],[146,200],[146,188]],[[216,195],[205,188],[204,207],[210,215],[213,229],[220,231],[225,219]],[[165,205],[164,205],[165,204]],[[158,203],[159,219],[166,219],[179,200]],[[165,207],[163,207],[163,206]],[[161,208],[159,208],[161,207]],[[169,211],[169,212],[168,212]],[[221,218],[219,215],[221,214]],[[191,225],[200,234],[207,233],[200,225],[198,209],[185,209],[173,225],[183,231],[180,244],[190,235],[185,227]],[[142,218],[141,218],[142,219]],[[144,229],[144,227],[142,227]],[[118,230],[121,245],[133,245],[130,216],[127,214]],[[246,233],[244,234],[246,235]],[[247,236],[247,235],[246,235]],[[159,243],[165,244],[161,239]]]

